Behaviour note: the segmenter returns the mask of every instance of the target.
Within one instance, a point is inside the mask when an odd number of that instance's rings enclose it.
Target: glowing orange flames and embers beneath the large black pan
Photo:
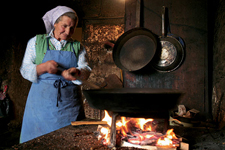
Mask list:
[[[103,127],[99,125],[98,131],[100,135],[98,139],[102,140],[104,145],[109,145],[112,118],[106,110],[105,117],[102,121],[107,121],[108,126]],[[121,137],[123,141],[135,145],[179,146],[179,140],[173,132],[173,129],[169,129],[166,134],[163,135],[156,131],[153,121],[153,119],[121,117],[120,120],[116,122],[117,134],[120,134],[118,137]]]

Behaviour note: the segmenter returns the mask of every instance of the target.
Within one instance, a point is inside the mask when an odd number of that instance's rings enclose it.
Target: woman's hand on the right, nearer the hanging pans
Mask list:
[[[66,80],[76,80],[76,77],[80,76],[80,70],[76,69],[76,68],[70,68],[68,70],[64,70],[62,72],[62,76],[66,79]]]

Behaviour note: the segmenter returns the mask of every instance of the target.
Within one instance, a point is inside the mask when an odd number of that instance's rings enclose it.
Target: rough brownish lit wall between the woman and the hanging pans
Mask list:
[[[104,42],[116,41],[123,34],[124,25],[87,25],[84,32],[84,45],[93,68],[89,80],[100,85],[110,74],[120,78],[120,70],[112,58],[112,49],[106,49]]]

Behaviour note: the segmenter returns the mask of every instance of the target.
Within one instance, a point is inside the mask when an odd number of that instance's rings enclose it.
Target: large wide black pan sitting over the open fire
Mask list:
[[[183,93],[173,89],[121,88],[83,90],[88,104],[113,112],[168,111],[176,107]]]

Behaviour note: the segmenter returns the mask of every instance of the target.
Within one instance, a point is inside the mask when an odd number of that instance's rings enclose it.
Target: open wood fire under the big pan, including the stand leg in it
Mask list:
[[[102,121],[107,122],[107,126],[98,126],[98,139],[108,147],[140,147],[148,149],[150,147],[167,147],[176,149],[180,147],[180,139],[176,137],[173,129],[167,129],[166,119],[145,119],[130,117],[110,117],[105,111]],[[116,119],[116,127],[111,127]],[[166,122],[166,123],[165,123]],[[165,132],[166,131],[166,132]],[[163,134],[164,133],[164,134]]]

